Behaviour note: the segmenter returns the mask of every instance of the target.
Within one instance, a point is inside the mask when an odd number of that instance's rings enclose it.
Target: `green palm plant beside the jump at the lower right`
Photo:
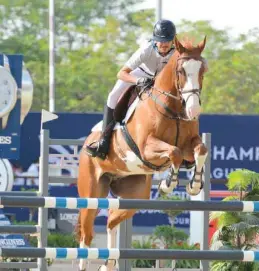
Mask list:
[[[236,170],[228,175],[227,187],[236,192],[224,201],[254,201],[259,199],[259,174],[250,170]],[[248,191],[250,190],[250,191]],[[218,230],[214,233],[213,250],[251,250],[256,249],[256,237],[259,234],[259,214],[239,212],[212,212],[210,220],[216,220]],[[257,263],[213,262],[212,271],[253,271],[258,270]]]

